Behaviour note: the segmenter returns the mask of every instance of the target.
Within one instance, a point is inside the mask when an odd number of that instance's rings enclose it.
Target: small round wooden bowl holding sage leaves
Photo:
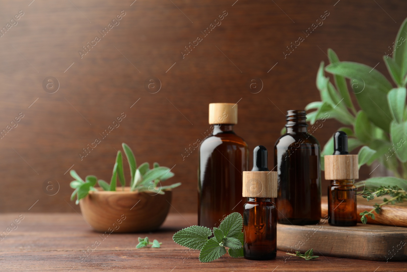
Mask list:
[[[117,191],[90,191],[79,201],[83,218],[100,232],[149,232],[158,229],[167,217],[172,192],[164,195]]]

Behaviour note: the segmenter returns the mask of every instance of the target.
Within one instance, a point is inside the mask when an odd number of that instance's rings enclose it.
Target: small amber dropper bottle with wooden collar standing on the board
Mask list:
[[[359,178],[358,155],[348,153],[348,135],[337,131],[333,135],[334,153],[325,155],[325,179],[328,186],[328,223],[332,226],[356,226],[356,192],[354,179]]]

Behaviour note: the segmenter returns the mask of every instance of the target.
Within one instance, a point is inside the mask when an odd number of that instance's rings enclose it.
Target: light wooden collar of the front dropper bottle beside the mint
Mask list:
[[[243,171],[243,197],[277,197],[277,172]]]

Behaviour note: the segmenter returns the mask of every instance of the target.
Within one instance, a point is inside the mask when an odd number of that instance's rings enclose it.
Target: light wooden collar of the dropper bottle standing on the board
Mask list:
[[[325,179],[359,179],[358,155],[325,155]]]

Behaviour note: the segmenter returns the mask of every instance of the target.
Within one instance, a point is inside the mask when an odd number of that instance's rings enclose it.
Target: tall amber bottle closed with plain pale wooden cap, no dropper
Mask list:
[[[249,168],[249,149],[234,133],[237,106],[209,104],[212,133],[199,147],[199,226],[219,227],[222,219],[232,212],[243,213],[242,173]]]

